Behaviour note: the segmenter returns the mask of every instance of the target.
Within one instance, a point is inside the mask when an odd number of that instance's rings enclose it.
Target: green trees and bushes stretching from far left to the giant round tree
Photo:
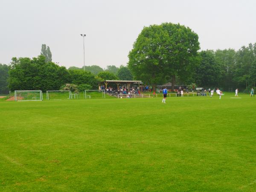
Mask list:
[[[7,72],[3,85],[7,87],[6,79],[9,78],[10,90],[59,90],[64,84],[76,84],[81,90],[88,87],[97,89],[99,81],[117,80],[118,76],[123,79],[132,79],[130,71],[124,66],[118,69],[117,75],[102,71],[95,76],[89,71],[67,70],[51,61],[46,62],[43,55],[32,59],[12,58],[9,66],[1,65],[1,67],[5,67]]]

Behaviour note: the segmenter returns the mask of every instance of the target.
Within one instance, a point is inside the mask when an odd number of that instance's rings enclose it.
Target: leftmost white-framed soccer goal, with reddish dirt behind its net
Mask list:
[[[15,101],[42,101],[43,93],[41,90],[15,90]]]

